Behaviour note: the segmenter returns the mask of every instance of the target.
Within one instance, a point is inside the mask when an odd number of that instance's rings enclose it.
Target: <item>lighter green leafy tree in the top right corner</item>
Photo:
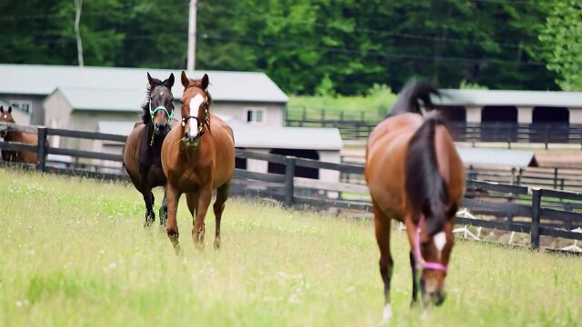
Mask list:
[[[556,72],[563,90],[582,91],[582,4],[557,1],[547,16],[539,39],[546,51],[547,68]]]

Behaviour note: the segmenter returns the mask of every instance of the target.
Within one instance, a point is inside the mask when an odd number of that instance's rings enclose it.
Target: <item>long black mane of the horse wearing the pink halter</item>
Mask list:
[[[412,136],[406,155],[406,197],[411,209],[425,215],[431,235],[440,231],[447,219],[447,184],[438,171],[435,149],[435,129],[439,124],[444,121],[437,112],[427,114],[425,122]]]

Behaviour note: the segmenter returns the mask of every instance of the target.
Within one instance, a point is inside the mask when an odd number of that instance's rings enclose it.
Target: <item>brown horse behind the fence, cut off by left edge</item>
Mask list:
[[[11,106],[6,110],[3,106],[0,106],[0,122],[16,123],[15,118],[12,116]],[[36,134],[2,130],[0,131],[0,137],[4,138],[7,142],[18,142],[29,145],[38,144],[38,135]],[[12,163],[37,163],[38,154],[31,151],[2,150],[2,159]]]

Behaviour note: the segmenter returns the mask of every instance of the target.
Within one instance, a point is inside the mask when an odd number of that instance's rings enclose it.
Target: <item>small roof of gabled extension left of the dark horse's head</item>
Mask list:
[[[146,93],[134,89],[58,88],[74,110],[141,112]]]

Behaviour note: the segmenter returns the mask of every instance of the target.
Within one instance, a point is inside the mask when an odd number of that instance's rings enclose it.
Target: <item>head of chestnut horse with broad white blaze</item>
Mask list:
[[[208,75],[199,80],[188,78],[182,72],[182,140],[188,147],[196,147],[205,134],[205,126],[210,130],[210,104],[212,98],[208,94]]]

